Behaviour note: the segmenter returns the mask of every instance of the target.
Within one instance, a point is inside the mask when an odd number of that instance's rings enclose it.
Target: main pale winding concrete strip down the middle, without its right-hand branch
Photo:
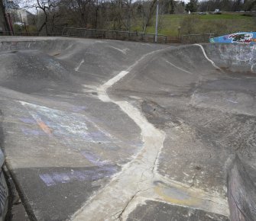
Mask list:
[[[120,107],[120,109],[125,114],[128,114],[128,116],[131,117],[132,120],[134,120],[134,123],[136,123],[138,127],[141,128],[141,136],[143,138],[144,146],[141,149],[141,152],[138,152],[136,155],[134,155],[134,159],[131,160],[131,162],[123,165],[122,171],[114,175],[108,185],[103,187],[102,190],[100,190],[97,194],[90,197],[90,199],[87,200],[86,203],[84,203],[83,206],[79,210],[77,210],[76,213],[73,214],[71,218],[72,220],[83,220],[88,218],[89,220],[98,220],[103,219],[103,217],[105,219],[105,217],[108,216],[108,213],[115,214],[112,215],[112,218],[110,217],[109,219],[124,219],[124,213],[128,214],[129,212],[131,212],[130,210],[126,211],[126,209],[129,207],[131,201],[134,201],[132,200],[134,199],[134,196],[136,196],[139,192],[147,187],[149,187],[148,189],[154,189],[154,182],[152,183],[152,181],[154,181],[155,175],[157,175],[157,177],[159,176],[157,174],[157,160],[160,155],[160,149],[163,147],[165,133],[155,128],[153,124],[149,123],[144,117],[144,114],[141,113],[141,110],[138,110],[137,107],[134,107],[128,101],[115,101],[109,98],[109,95],[107,94],[107,89],[112,87],[112,85],[125,77],[125,75],[127,75],[131,71],[131,69],[134,68],[134,66],[141,62],[141,60],[143,60],[145,56],[156,53],[157,51],[163,50],[156,50],[154,52],[145,54],[141,57],[141,59],[138,59],[138,61],[134,62],[134,64],[128,69],[119,72],[118,75],[115,75],[113,78],[109,79],[108,82],[105,82],[103,85],[97,88],[98,98],[101,101],[112,102],[118,105],[118,107]],[[140,159],[139,162],[138,158]],[[144,170],[145,168],[147,169]],[[144,177],[143,181],[141,181],[142,177]],[[134,182],[136,181],[137,186],[134,184]],[[138,186],[138,182],[141,183],[141,187]],[[173,183],[173,181],[170,182]],[[122,195],[122,199],[120,199],[120,197],[117,197],[116,195]],[[149,198],[152,198],[152,196]],[[204,194],[201,200],[214,202],[210,200],[211,198],[212,197],[207,197],[206,194]],[[110,201],[112,203],[110,203]],[[219,204],[219,202],[215,203]],[[210,207],[211,208],[207,209],[215,213],[217,212],[216,208],[218,206],[215,208],[214,205],[211,205]],[[201,210],[207,209],[205,207],[201,208]]]

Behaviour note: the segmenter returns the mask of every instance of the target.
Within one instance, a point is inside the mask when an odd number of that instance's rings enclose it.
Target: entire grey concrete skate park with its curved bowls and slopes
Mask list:
[[[236,158],[255,199],[256,46],[0,41],[1,147],[28,220],[229,220]]]

